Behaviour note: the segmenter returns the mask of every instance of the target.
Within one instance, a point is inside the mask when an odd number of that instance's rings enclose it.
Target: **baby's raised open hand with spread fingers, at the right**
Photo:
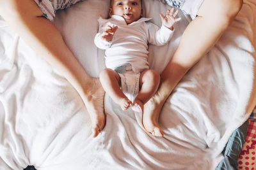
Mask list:
[[[165,16],[162,13],[160,13],[160,17],[163,25],[165,27],[168,27],[168,29],[170,30],[173,30],[173,24],[175,22],[178,22],[179,20],[181,20],[181,18],[176,18],[179,10],[176,10],[175,13],[173,13],[173,11],[174,11],[174,8],[172,8],[171,10],[167,10]]]

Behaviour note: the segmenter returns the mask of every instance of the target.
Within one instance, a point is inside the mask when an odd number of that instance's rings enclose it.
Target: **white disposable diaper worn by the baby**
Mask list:
[[[131,64],[115,68],[121,79],[121,89],[125,96],[133,103],[140,90],[140,73],[132,70]]]

